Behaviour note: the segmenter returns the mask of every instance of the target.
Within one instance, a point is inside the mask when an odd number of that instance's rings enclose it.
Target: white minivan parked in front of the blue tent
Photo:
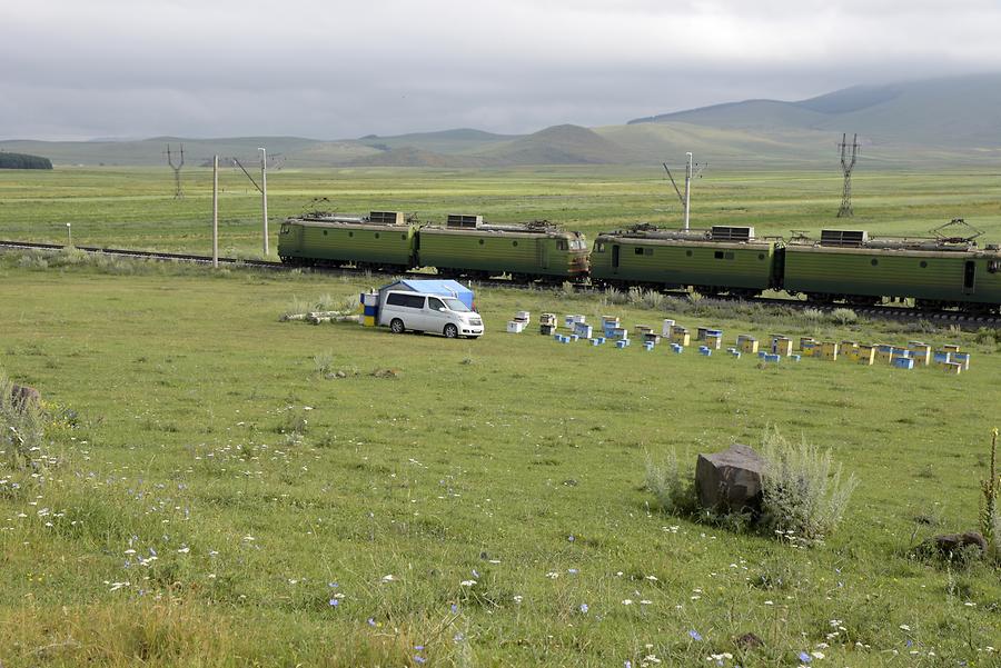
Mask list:
[[[422,292],[386,292],[379,325],[394,333],[432,331],[449,339],[483,336],[483,319],[455,297]]]

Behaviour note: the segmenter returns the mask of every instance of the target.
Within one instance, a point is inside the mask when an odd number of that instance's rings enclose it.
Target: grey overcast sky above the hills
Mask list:
[[[999,44],[998,0],[3,0],[0,139],[593,127]]]

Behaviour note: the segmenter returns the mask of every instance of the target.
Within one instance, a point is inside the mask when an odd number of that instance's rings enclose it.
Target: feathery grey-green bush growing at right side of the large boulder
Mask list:
[[[767,462],[762,475],[762,520],[765,527],[797,540],[817,541],[834,531],[858,481],[842,480],[831,450],[801,440],[790,443],[772,429],[762,440]]]

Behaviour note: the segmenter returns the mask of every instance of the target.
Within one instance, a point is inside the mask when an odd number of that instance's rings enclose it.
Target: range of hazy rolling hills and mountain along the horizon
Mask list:
[[[288,168],[492,167],[677,163],[686,151],[717,167],[830,168],[842,132],[858,132],[863,163],[883,167],[1001,163],[1001,73],[856,86],[806,100],[745,100],[638,118],[623,126],[553,126],[532,134],[472,128],[320,141],[301,137],[107,141],[0,141],[0,150],[60,164],[165,167],[168,143],[197,166],[212,154]]]

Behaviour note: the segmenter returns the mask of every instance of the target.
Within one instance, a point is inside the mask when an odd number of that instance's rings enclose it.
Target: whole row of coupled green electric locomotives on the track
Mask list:
[[[957,219],[950,225],[960,225]],[[941,229],[941,228],[940,228]],[[640,223],[585,236],[549,221],[496,225],[449,215],[423,225],[396,211],[367,216],[311,213],[286,219],[278,237],[283,262],[383,271],[435,269],[447,278],[598,288],[694,290],[752,298],[765,291],[819,303],[999,312],[1001,249],[974,237],[873,237],[866,230],[822,230],[820,238],[757,237],[753,227],[675,230]]]

